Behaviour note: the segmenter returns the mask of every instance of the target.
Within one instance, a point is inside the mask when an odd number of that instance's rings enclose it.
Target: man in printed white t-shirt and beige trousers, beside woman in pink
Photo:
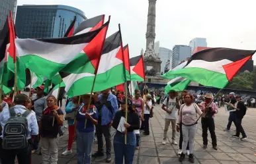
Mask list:
[[[169,97],[163,101],[162,109],[165,113],[165,128],[163,130],[163,145],[166,144],[167,132],[171,123],[171,128],[173,130],[171,140],[172,144],[177,145],[175,141],[176,133],[176,120],[177,120],[177,109],[179,109],[179,99],[176,97],[176,92],[174,90],[169,91]]]

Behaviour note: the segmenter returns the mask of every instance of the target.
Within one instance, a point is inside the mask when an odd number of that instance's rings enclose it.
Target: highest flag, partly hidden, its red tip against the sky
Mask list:
[[[105,15],[103,14],[81,22],[77,29],[75,29],[75,32],[73,32],[73,35],[85,34],[87,32],[101,28],[101,26],[104,24],[104,18]]]

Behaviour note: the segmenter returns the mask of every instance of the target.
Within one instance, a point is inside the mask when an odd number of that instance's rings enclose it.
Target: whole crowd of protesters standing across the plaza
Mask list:
[[[143,93],[135,90],[135,96],[129,96],[126,101],[124,92],[111,93],[109,88],[101,93],[85,94],[68,99],[65,118],[62,108],[58,106],[58,97],[44,96],[44,86],[36,88],[36,93],[31,96],[17,94],[13,102],[8,99],[10,97],[1,94],[0,144],[3,146],[0,146],[0,159],[2,164],[14,164],[16,156],[19,164],[30,164],[31,153],[38,151],[39,143],[43,164],[57,164],[58,144],[60,136],[63,135],[61,127],[64,126],[64,120],[67,120],[69,134],[67,150],[62,152],[62,155],[72,153],[72,144],[75,140],[77,164],[89,164],[91,156],[104,155],[104,136],[106,162],[112,161],[110,152],[113,146],[116,164],[123,162],[132,164],[135,151],[140,149],[140,135],[149,135],[149,119],[153,117],[153,107],[160,103],[163,103],[161,109],[165,111],[162,144],[165,145],[167,142],[167,132],[171,124],[171,144],[178,144],[175,136],[176,132],[180,133],[179,161],[183,161],[187,154],[189,161],[194,163],[194,136],[200,117],[204,149],[208,146],[209,130],[212,148],[218,150],[214,124],[214,117],[218,114],[218,103],[214,101],[212,94],[194,96],[183,91],[179,95],[178,92],[171,90],[167,95],[162,95],[161,92],[154,93],[144,89]],[[241,122],[247,107],[241,100],[241,96],[230,93],[225,97],[224,105],[232,109],[228,125],[224,130],[229,131],[233,122],[236,126],[236,134],[233,137],[240,138],[241,134],[241,140],[246,140],[247,136]],[[125,119],[126,106],[127,119]],[[21,129],[21,132],[17,131],[20,128],[17,123],[24,124],[26,128]],[[116,130],[113,141],[111,141],[111,127]],[[96,138],[98,148],[92,154],[92,146]]]

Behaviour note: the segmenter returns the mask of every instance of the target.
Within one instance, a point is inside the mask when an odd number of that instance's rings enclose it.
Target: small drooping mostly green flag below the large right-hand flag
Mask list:
[[[183,91],[189,86],[191,80],[183,77],[177,77],[167,83],[165,86],[165,94],[168,94],[170,90]]]

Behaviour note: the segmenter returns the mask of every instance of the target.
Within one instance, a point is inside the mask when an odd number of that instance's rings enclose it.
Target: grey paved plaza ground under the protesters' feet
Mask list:
[[[157,105],[155,108],[155,115],[150,119],[150,135],[141,137],[140,150],[136,150],[134,155],[134,164],[169,164],[180,163],[177,152],[179,146],[171,144],[171,126],[168,131],[169,140],[164,146],[161,144],[163,138],[164,128],[164,111],[161,110],[161,106]],[[215,118],[216,136],[218,140],[218,150],[214,150],[211,146],[211,140],[207,150],[202,148],[202,128],[201,124],[198,124],[198,130],[194,142],[194,156],[195,163],[201,164],[251,164],[256,163],[256,109],[248,109],[247,114],[243,119],[243,128],[247,133],[247,141],[240,141],[237,138],[232,138],[235,130],[234,124],[232,124],[231,132],[224,132],[226,124],[228,123],[228,113],[224,111],[224,108],[220,108],[218,115]],[[65,123],[66,124],[66,123]],[[114,136],[115,130],[112,129],[112,136]],[[208,139],[210,139],[208,133]],[[179,133],[177,133],[177,142],[179,142]],[[59,146],[59,161],[60,164],[76,164],[75,157],[76,143],[73,144],[73,153],[70,155],[62,155],[62,152],[67,148],[67,130],[65,135],[62,136]],[[93,153],[97,150],[96,142],[93,144]],[[112,148],[112,161],[114,163],[114,150]],[[34,154],[32,155],[32,164],[42,163],[42,156]],[[189,163],[188,158],[183,161]],[[93,158],[92,164],[106,164],[105,157]]]

